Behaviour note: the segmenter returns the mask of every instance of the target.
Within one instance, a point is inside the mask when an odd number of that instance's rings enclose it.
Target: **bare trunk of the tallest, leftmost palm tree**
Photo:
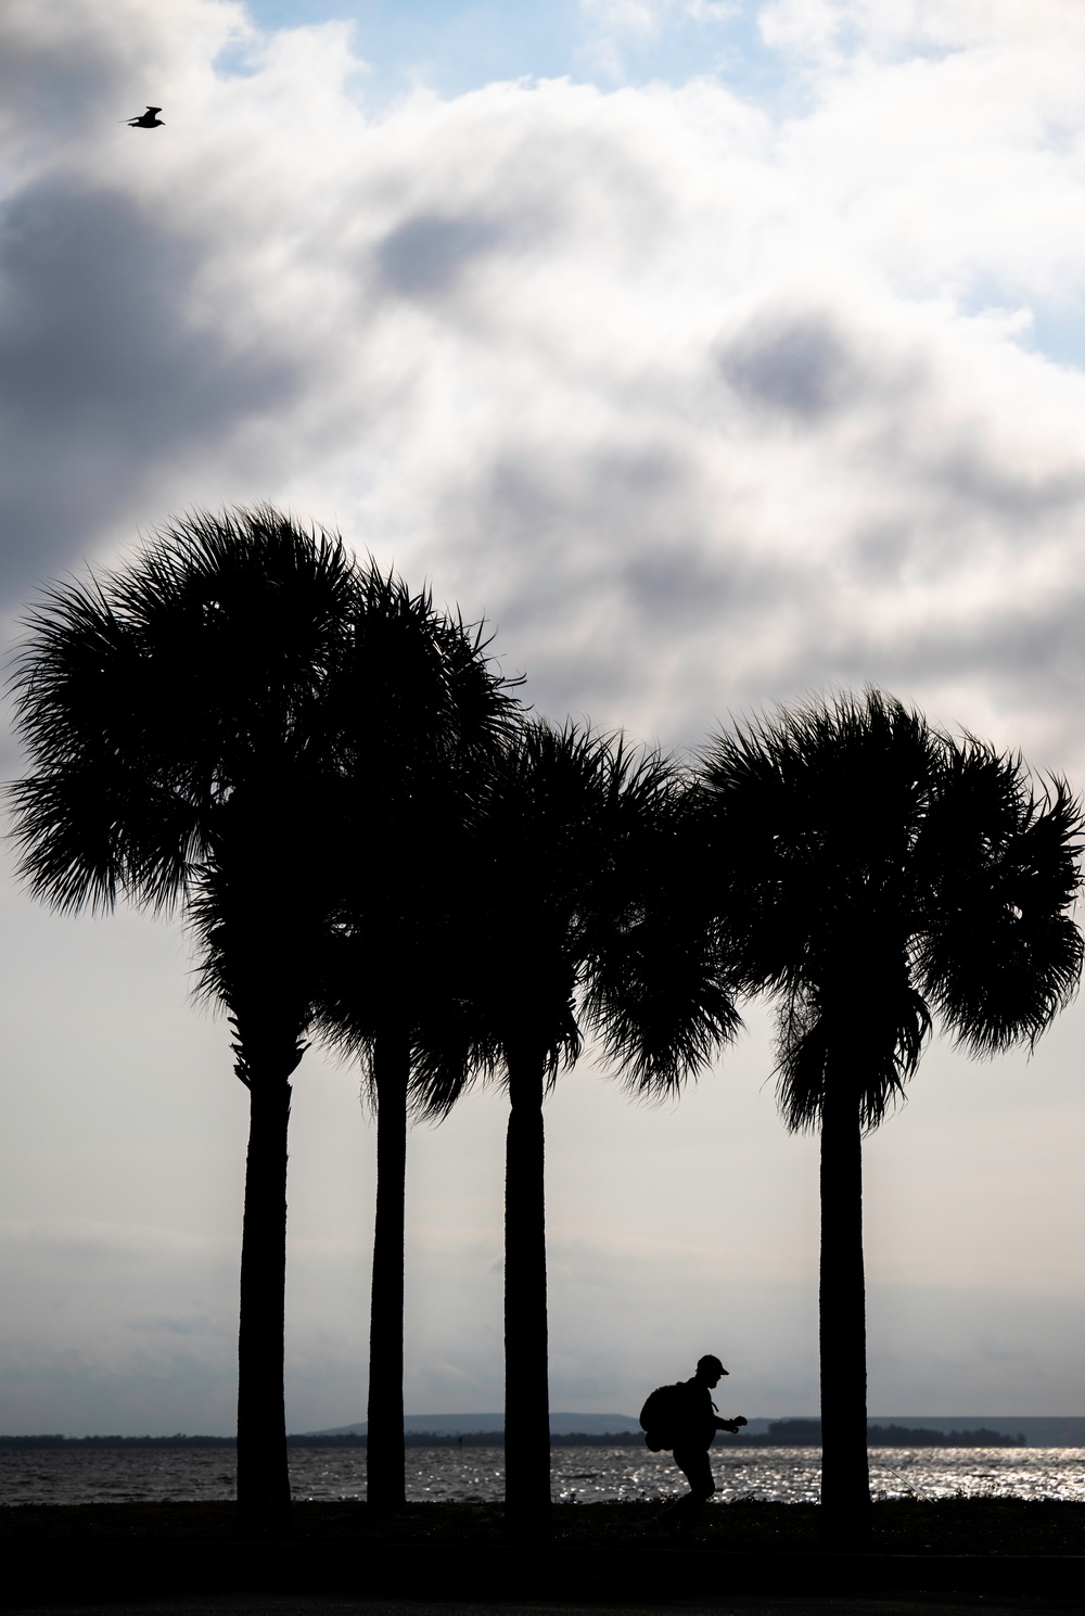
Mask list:
[[[289,1081],[252,1073],[237,1336],[237,1513],[242,1535],[258,1538],[281,1535],[291,1513],[283,1398],[289,1120]]]

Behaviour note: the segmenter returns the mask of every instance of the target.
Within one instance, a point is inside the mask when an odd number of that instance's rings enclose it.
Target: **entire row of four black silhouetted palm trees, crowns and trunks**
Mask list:
[[[318,1039],[376,1113],[368,1498],[405,1501],[410,1117],[509,1096],[507,1529],[551,1511],[542,1102],[586,1037],[677,1094],[778,1010],[785,1123],[820,1136],[822,1506],[867,1529],[862,1136],[938,1020],[972,1055],[1072,997],[1082,810],[1061,777],[877,690],[712,735],[691,766],[526,709],[481,624],[271,506],[195,512],[48,587],[15,667],[29,890],[179,910],[232,1028],[250,1134],[241,1529],[289,1514],[291,1076]],[[501,944],[496,942],[501,939]]]

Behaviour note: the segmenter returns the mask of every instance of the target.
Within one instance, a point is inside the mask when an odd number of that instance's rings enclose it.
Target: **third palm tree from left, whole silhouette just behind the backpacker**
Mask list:
[[[489,772],[475,821],[473,920],[489,947],[455,957],[459,999],[442,1047],[459,1031],[465,1062],[501,1073],[509,1091],[505,1519],[517,1540],[546,1537],[551,1516],[546,1094],[586,1029],[636,1078],[664,1083],[681,1081],[736,1028],[709,949],[698,960],[686,941],[688,970],[662,965],[675,937],[656,892],[678,797],[659,755],[531,721]],[[431,1065],[420,1047],[421,1083]]]

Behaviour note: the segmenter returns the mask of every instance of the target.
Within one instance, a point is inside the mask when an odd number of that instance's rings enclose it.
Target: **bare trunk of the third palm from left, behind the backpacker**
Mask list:
[[[551,1393],[546,1322],[544,1057],[509,1052],[505,1149],[505,1530],[551,1534]]]

